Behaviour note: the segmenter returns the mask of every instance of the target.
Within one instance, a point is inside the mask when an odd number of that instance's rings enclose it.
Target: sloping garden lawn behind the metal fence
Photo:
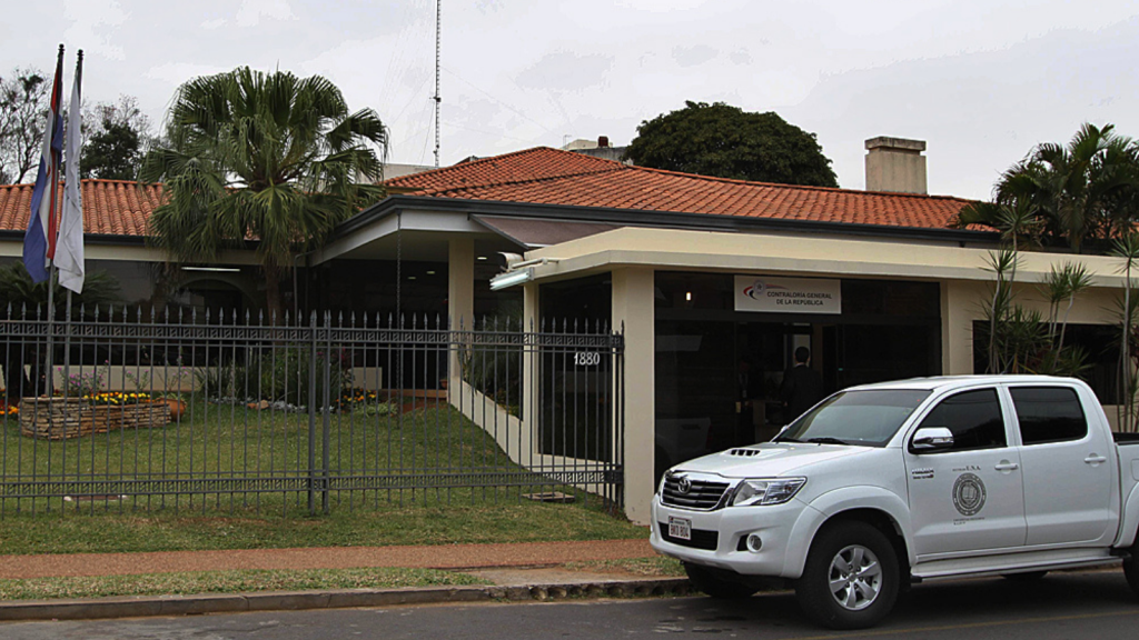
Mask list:
[[[427,407],[398,415],[345,411],[331,413],[327,419],[326,446],[321,433],[323,416],[317,416],[317,436],[310,440],[306,413],[200,400],[190,403],[181,420],[164,427],[123,429],[67,441],[22,436],[17,420],[8,418],[0,426],[0,518],[14,512],[74,510],[76,504],[89,512],[306,514],[306,487],[312,477],[319,482],[320,475],[309,471],[310,456],[318,469],[323,468],[327,456],[334,482],[343,478],[338,482],[353,487],[330,492],[330,509],[498,506],[517,503],[526,493],[568,491],[515,465],[491,435],[445,401],[429,401]],[[600,463],[593,467],[600,468]],[[460,486],[494,484],[505,477],[515,485]],[[183,484],[165,485],[165,494],[131,494],[130,486],[113,484],[118,479],[163,483],[173,478]],[[112,484],[98,484],[104,479]],[[191,482],[198,479],[237,484],[203,487],[202,483]],[[85,491],[97,498],[68,503],[59,495],[15,497],[43,486],[73,486],[59,483],[76,482],[87,483],[92,489]],[[517,486],[521,483],[525,484]],[[456,486],[441,486],[446,484]],[[371,489],[360,489],[363,486]],[[226,492],[227,487],[235,491]],[[212,493],[195,493],[203,490]],[[598,500],[584,492],[576,493],[583,501]],[[118,494],[130,495],[120,500]]]

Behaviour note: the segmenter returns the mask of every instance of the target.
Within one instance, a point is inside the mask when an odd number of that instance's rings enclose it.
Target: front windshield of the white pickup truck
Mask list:
[[[851,391],[800,416],[775,442],[885,446],[928,391]]]

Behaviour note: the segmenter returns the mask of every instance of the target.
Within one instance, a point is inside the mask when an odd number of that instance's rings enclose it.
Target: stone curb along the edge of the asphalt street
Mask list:
[[[673,577],[570,584],[543,583],[486,586],[270,591],[233,594],[125,596],[82,600],[0,602],[0,621],[181,616],[238,612],[391,607],[396,605],[427,605],[437,602],[486,602],[493,600],[549,601],[567,598],[687,596],[691,591],[693,586],[688,582],[688,579]]]

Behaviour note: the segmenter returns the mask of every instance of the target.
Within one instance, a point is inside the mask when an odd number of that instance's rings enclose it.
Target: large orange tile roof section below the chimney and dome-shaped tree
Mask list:
[[[948,228],[972,200],[797,187],[630,166],[536,147],[387,181],[409,195],[744,218]]]

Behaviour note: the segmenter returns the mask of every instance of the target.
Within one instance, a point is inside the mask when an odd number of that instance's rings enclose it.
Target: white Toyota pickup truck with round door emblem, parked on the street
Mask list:
[[[771,442],[670,469],[653,547],[713,597],[789,581],[833,629],[934,579],[1123,563],[1139,593],[1139,437],[1071,378],[921,378],[836,393]]]

